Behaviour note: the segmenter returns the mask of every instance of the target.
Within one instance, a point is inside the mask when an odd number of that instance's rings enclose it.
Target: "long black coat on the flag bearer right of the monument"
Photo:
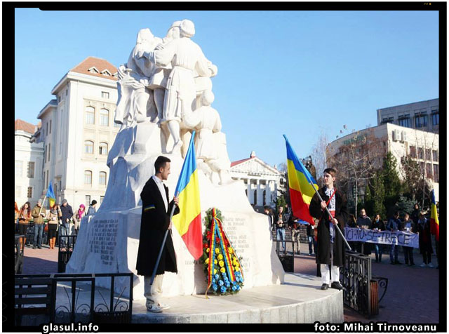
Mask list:
[[[323,201],[328,201],[329,196],[325,194],[326,187],[319,189],[319,194]],[[346,196],[337,190],[335,192],[335,219],[338,220],[338,226],[342,233],[344,233],[344,222],[346,222],[349,218],[349,214],[347,212],[347,200]],[[318,252],[316,254],[316,263],[321,265],[330,265],[330,232],[329,232],[329,224],[332,222],[329,221],[328,213],[326,211],[321,211],[320,200],[318,196],[315,194],[311,199],[309,206],[309,213],[312,217],[319,219],[317,232],[317,246]],[[335,228],[335,237],[334,237],[334,259],[333,265],[337,267],[341,267],[344,265],[344,254],[346,252],[346,245],[343,241],[343,238],[340,232]]]

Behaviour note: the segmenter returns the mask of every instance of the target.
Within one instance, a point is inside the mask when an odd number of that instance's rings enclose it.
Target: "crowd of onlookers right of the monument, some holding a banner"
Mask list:
[[[300,223],[299,220],[293,216],[291,208],[286,204],[285,206],[280,206],[274,210],[270,206],[264,206],[264,213],[268,215],[269,227],[274,231],[276,239],[281,241],[281,250],[286,254],[286,230],[290,229],[292,231],[292,238],[297,242],[297,253],[299,254],[299,234],[300,234]],[[315,220],[316,221],[316,220]],[[317,222],[317,221],[316,221]],[[306,222],[302,222],[306,225]],[[430,233],[430,220],[426,218],[426,213],[420,211],[420,206],[418,203],[415,204],[414,209],[411,213],[403,213],[401,218],[400,212],[395,212],[394,215],[388,220],[382,220],[380,214],[374,215],[371,219],[366,214],[366,209],[362,208],[359,211],[359,215],[356,218],[355,215],[349,215],[349,220],[346,224],[347,227],[355,227],[359,229],[373,229],[375,231],[404,231],[410,233],[419,234],[420,243],[420,254],[422,255],[422,264],[420,267],[435,267],[432,264],[432,254],[434,249],[431,243],[431,233]],[[316,255],[317,241],[316,241],[316,227],[317,224],[311,225],[307,223],[306,225],[306,236],[309,246],[309,255]],[[400,265],[402,262],[398,260],[398,250],[399,247],[395,244],[382,245],[380,243],[364,243],[359,241],[349,241],[349,246],[358,253],[363,253],[364,255],[370,255],[375,253],[375,262],[382,262],[382,254],[385,250],[389,251],[391,265]],[[413,256],[413,247],[402,246],[404,254],[404,262],[408,266],[415,266],[415,258]],[[438,254],[437,260],[438,260]],[[438,264],[436,265],[438,269]]]

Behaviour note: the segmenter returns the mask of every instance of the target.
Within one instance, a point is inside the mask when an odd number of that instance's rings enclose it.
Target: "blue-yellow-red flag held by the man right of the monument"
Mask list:
[[[309,205],[311,198],[315,194],[314,187],[319,189],[313,176],[307,171],[300,159],[297,159],[295,151],[293,151],[286,138],[287,145],[287,170],[288,170],[288,187],[290,190],[290,203],[292,205],[293,215],[301,220],[315,225],[314,219],[309,213]],[[312,187],[313,184],[313,187]]]

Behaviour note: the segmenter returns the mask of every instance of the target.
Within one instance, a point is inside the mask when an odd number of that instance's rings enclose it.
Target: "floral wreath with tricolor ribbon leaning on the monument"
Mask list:
[[[216,208],[206,211],[206,230],[203,235],[203,255],[208,290],[212,288],[214,295],[230,295],[238,293],[243,286],[243,272],[240,260],[235,253],[222,225],[222,214]]]

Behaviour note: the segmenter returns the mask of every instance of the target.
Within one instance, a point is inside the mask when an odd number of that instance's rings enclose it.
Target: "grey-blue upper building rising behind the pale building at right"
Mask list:
[[[440,127],[439,99],[408,103],[377,109],[377,125],[392,123],[405,128],[438,133]]]

